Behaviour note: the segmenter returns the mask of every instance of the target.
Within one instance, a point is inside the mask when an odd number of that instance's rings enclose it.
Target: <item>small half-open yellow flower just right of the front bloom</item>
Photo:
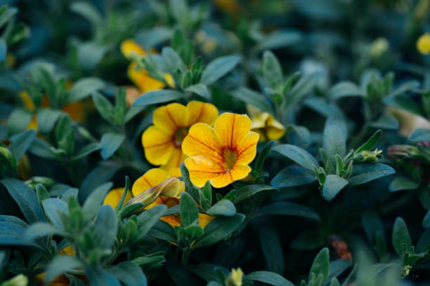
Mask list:
[[[284,125],[268,112],[261,112],[252,117],[251,130],[259,133],[260,141],[278,140],[285,134]]]

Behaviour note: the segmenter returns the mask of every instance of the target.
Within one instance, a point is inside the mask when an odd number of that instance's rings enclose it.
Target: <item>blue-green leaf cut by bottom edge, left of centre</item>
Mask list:
[[[109,273],[124,282],[127,286],[146,286],[148,281],[142,269],[130,261],[121,262],[107,269]]]

